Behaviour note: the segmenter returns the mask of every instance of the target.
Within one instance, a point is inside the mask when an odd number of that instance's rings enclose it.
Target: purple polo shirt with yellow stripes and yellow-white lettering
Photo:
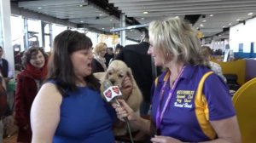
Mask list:
[[[217,134],[209,121],[236,115],[228,87],[214,73],[207,77],[202,94],[196,96],[201,77],[207,72],[210,72],[207,67],[185,66],[164,113],[160,125],[161,135],[189,142],[213,140],[217,138]],[[170,90],[170,83],[167,82],[160,104],[160,90],[165,81],[169,80],[166,73],[162,73],[154,82],[151,109],[153,123],[158,106],[160,105],[161,111]]]

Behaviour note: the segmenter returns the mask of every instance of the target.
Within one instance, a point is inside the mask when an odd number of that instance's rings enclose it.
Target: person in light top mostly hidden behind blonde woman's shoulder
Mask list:
[[[218,63],[211,61],[212,49],[208,46],[202,46],[201,48],[202,48],[201,49],[201,54],[203,55],[203,57],[206,58],[206,61],[208,62],[211,70],[213,72],[215,72],[216,74],[218,74],[218,76],[221,77],[224,80],[225,83],[227,83],[227,79],[222,74],[221,66],[218,65]]]

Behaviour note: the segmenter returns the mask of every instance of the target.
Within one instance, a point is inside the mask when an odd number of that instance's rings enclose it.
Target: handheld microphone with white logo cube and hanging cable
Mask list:
[[[106,98],[106,100],[108,102],[113,102],[114,101],[119,106],[121,106],[120,103],[119,103],[119,100],[118,100],[118,96],[122,95],[119,87],[118,86],[113,86],[113,84],[109,80],[105,80],[102,84],[103,84],[103,89],[104,89],[103,95]],[[124,120],[125,120],[125,123],[127,124],[127,128],[128,128],[128,131],[129,131],[129,136],[130,136],[131,143],[134,143],[134,141],[132,139],[132,135],[131,135],[131,127],[130,127],[128,117],[124,117]]]

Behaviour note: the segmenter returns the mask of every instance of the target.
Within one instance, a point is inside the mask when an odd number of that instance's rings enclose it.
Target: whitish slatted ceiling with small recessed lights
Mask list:
[[[93,1],[93,0],[92,0]],[[102,0],[113,3],[127,17],[133,17],[141,24],[167,17],[184,17],[189,14],[203,14],[195,23],[205,37],[211,37],[223,31],[223,28],[234,26],[242,20],[256,15],[256,0]],[[19,2],[19,7],[37,13],[47,14],[77,24],[110,31],[119,27],[119,19],[109,15],[87,0],[38,0]],[[83,5],[83,7],[80,7]],[[39,9],[38,9],[39,8]],[[148,14],[143,14],[147,11]],[[252,15],[247,15],[253,13]],[[213,14],[211,17],[210,14]],[[239,20],[238,20],[239,19]],[[205,21],[206,20],[206,21]],[[203,26],[201,26],[203,25]],[[102,29],[103,28],[103,29]],[[141,33],[137,30],[127,31],[127,37],[138,40]]]

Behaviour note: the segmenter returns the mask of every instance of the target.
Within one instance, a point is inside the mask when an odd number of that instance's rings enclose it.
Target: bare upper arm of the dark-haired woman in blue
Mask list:
[[[62,97],[53,83],[45,83],[32,104],[32,143],[51,143],[60,121]]]

